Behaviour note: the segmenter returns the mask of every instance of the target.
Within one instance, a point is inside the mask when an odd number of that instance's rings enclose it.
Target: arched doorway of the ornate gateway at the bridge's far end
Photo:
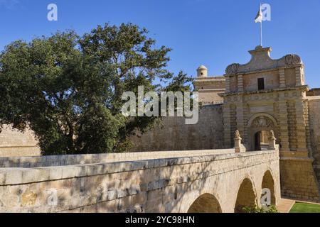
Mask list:
[[[247,147],[249,150],[261,150],[257,149],[257,139],[260,140],[260,135],[268,135],[270,131],[274,131],[276,138],[279,137],[277,120],[270,114],[260,113],[254,114],[247,122],[248,140]]]

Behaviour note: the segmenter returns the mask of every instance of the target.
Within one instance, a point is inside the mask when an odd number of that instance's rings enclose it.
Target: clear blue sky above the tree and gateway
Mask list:
[[[58,6],[58,21],[47,20],[47,6]],[[320,87],[320,1],[269,0],[272,21],[263,23],[264,46],[272,57],[302,57],[306,82]],[[196,75],[224,74],[233,62],[250,60],[260,43],[254,23],[258,0],[0,0],[0,50],[16,39],[31,40],[72,28],[80,35],[97,24],[132,22],[150,31],[159,45],[173,48],[169,69]]]

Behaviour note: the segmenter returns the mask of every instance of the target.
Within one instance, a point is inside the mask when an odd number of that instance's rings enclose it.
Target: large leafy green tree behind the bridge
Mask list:
[[[166,70],[169,51],[131,23],[15,41],[0,55],[0,127],[30,126],[43,155],[128,150],[156,117],[123,116],[123,92],[190,89],[186,74]]]

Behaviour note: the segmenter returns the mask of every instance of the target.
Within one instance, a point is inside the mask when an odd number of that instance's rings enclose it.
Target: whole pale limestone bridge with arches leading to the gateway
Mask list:
[[[238,212],[280,198],[279,148],[4,157],[0,212]]]

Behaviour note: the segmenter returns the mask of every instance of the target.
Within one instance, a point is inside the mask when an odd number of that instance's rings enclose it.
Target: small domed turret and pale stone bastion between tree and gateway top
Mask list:
[[[208,69],[201,65],[197,69],[197,78],[193,83],[195,89],[199,92],[199,101],[203,105],[222,104],[223,98],[220,93],[225,92],[224,77],[208,77]]]

